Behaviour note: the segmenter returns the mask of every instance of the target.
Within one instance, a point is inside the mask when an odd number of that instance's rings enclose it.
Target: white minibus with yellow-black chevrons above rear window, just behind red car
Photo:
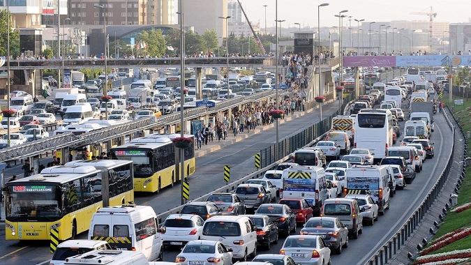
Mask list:
[[[292,166],[283,170],[280,199],[303,198],[313,205],[314,215],[320,214],[320,207],[327,199],[327,180],[322,167]]]

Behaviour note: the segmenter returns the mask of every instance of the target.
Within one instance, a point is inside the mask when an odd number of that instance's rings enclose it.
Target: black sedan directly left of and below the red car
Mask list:
[[[285,204],[262,204],[255,212],[257,215],[268,215],[271,221],[278,227],[279,232],[286,236],[290,232],[296,232],[296,215]]]

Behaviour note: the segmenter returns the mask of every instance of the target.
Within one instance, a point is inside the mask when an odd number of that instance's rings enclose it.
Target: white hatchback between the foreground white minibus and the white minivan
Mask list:
[[[204,220],[200,215],[172,214],[163,222],[162,240],[164,246],[183,246],[188,241],[197,240],[201,236]]]

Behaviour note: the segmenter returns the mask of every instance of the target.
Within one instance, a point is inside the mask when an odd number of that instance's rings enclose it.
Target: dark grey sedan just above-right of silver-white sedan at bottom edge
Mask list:
[[[348,247],[348,228],[336,217],[315,217],[306,222],[299,234],[321,236],[331,250],[341,254]]]

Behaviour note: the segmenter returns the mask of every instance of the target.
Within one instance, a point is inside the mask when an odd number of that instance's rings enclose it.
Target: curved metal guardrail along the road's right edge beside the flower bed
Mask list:
[[[451,125],[451,121],[447,116],[447,112],[444,112],[445,119],[447,119],[447,125],[453,132],[453,139],[455,138],[456,130]],[[415,211],[409,216],[405,224],[398,229],[394,236],[391,236],[379,250],[375,252],[371,257],[368,257],[369,265],[384,265],[387,264],[389,259],[392,259],[392,255],[396,255],[398,250],[401,250],[401,246],[407,244],[407,240],[413,236],[415,229],[419,226],[419,223],[426,216],[428,210],[433,206],[433,202],[440,196],[440,192],[447,182],[454,158],[454,141],[451,146],[451,153],[447,160],[447,167],[445,167],[440,174],[440,178],[435,182],[433,188],[428,192],[425,199],[422,200],[421,204],[415,209]]]

